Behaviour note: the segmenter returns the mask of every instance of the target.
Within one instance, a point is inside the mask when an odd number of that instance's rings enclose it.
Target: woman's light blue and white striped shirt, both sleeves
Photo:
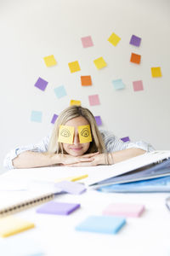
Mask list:
[[[155,149],[149,144],[144,143],[142,141],[131,143],[131,142],[122,142],[121,139],[116,137],[111,131],[100,131],[107,153],[120,151],[126,148],[141,148],[146,152],[154,151]],[[44,137],[41,142],[36,144],[30,144],[27,146],[22,146],[19,148],[14,148],[11,150],[5,157],[3,161],[3,166],[8,169],[14,169],[13,166],[13,160],[16,158],[19,154],[25,152],[25,151],[32,151],[32,152],[39,152],[44,153],[48,151],[48,143],[50,140],[50,136]]]

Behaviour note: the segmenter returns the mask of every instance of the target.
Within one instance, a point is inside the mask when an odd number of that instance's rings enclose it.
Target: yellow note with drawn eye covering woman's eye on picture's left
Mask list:
[[[59,125],[59,143],[72,144],[74,136],[74,127],[68,125]]]

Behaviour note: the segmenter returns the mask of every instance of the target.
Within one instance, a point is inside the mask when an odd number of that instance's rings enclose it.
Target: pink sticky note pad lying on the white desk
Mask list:
[[[103,214],[123,217],[139,217],[142,212],[144,212],[144,205],[115,203],[106,207]]]

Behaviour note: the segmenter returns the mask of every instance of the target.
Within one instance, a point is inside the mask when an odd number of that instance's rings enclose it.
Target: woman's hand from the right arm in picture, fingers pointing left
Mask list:
[[[90,156],[91,155],[91,156]],[[88,156],[87,158],[85,156]],[[80,167],[80,166],[99,166],[99,165],[106,165],[108,154],[85,154],[82,155],[82,158],[79,162],[71,163],[71,164],[64,164],[64,166],[71,166],[71,167]],[[77,158],[77,157],[76,157]]]

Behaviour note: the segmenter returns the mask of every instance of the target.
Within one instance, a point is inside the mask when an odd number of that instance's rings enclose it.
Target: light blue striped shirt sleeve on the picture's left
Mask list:
[[[49,143],[49,136],[48,137],[43,137],[42,141],[36,144],[30,144],[27,146],[21,146],[12,149],[4,158],[3,160],[3,166],[7,170],[14,169],[13,166],[13,160],[16,158],[19,154],[25,152],[25,151],[32,151],[32,152],[47,152],[48,151],[48,143]]]

